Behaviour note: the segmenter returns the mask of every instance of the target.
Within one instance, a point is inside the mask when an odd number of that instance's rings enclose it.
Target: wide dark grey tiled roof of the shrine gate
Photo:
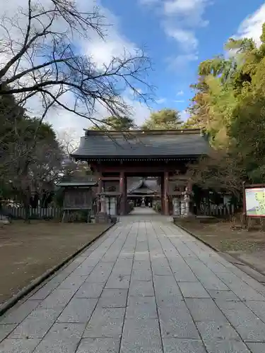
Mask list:
[[[187,157],[207,155],[207,139],[199,129],[167,131],[92,131],[81,137],[73,157]]]

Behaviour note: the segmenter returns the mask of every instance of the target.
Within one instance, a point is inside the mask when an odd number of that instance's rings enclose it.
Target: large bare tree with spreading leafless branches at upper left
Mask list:
[[[91,37],[107,40],[106,19],[97,7],[83,11],[72,0],[28,0],[12,17],[5,14],[0,26],[0,96],[13,94],[19,105],[37,97],[41,117],[55,106],[97,124],[99,105],[114,116],[128,114],[124,90],[144,102],[150,97],[151,63],[142,50],[124,49],[122,57],[100,66],[83,53]]]

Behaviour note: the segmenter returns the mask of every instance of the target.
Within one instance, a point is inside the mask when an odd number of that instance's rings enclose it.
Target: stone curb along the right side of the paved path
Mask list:
[[[215,246],[213,246],[211,244],[208,244],[207,241],[205,241],[204,239],[201,239],[200,237],[198,237],[193,232],[190,232],[185,227],[182,227],[182,225],[177,225],[174,221],[173,221],[173,224],[176,227],[179,227],[180,229],[184,230],[184,232],[187,232],[188,234],[190,234],[195,239],[201,241],[201,243],[203,243],[204,245],[208,246],[208,248],[212,249],[213,251],[216,251],[216,253],[218,253],[220,256],[225,258],[226,261],[228,261],[229,263],[232,263],[232,265],[235,265],[235,267],[239,268],[242,272],[246,273],[246,275],[249,275],[249,277],[254,278],[254,280],[257,280],[257,282],[261,283],[261,285],[264,285],[265,282],[262,282],[261,280],[259,280],[259,276],[264,276],[264,274],[259,272],[259,270],[257,268],[255,268],[254,266],[252,266],[250,263],[248,263],[247,261],[242,261],[241,259],[239,260],[236,257],[234,257],[234,256],[232,256],[232,255],[230,255],[228,253],[223,253],[222,251],[216,249]],[[232,258],[235,262],[232,262],[229,258]],[[242,265],[244,265],[245,268],[242,268]],[[250,269],[250,271],[249,271],[249,269]],[[253,271],[255,271],[257,273],[257,275],[255,275],[253,273]]]

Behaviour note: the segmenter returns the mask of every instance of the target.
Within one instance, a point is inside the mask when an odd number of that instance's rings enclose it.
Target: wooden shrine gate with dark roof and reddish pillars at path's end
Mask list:
[[[186,176],[187,165],[209,152],[208,139],[199,129],[86,130],[71,156],[88,162],[98,180],[98,197],[111,200],[109,213],[125,215],[127,201],[141,196],[141,189],[145,189],[150,197],[160,199],[164,215],[180,215],[183,193],[192,189]],[[155,190],[142,183],[144,187],[131,189],[127,180],[132,177],[156,177],[160,188]]]

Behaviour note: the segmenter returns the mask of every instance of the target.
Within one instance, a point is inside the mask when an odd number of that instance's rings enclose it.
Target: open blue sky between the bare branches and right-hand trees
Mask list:
[[[258,40],[265,22],[261,0],[101,0],[100,5],[113,16],[116,39],[144,46],[151,56],[155,70],[149,79],[158,102],[153,109],[175,108],[185,117],[199,62],[222,53],[233,35]]]

